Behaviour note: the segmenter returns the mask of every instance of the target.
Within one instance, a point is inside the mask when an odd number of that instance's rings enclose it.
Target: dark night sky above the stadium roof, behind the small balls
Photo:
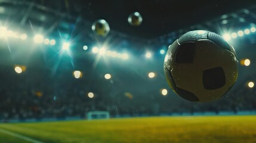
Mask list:
[[[110,29],[144,38],[155,38],[172,30],[181,29],[256,4],[255,0],[78,2],[81,6],[81,13],[87,20],[94,21],[98,18],[104,18],[108,21]],[[138,27],[129,26],[127,22],[128,15],[134,11],[138,11],[143,16],[143,23]]]

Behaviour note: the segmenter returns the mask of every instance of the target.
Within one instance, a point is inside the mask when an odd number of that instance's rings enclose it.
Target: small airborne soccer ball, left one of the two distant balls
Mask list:
[[[109,24],[103,19],[95,21],[91,29],[95,34],[100,36],[106,36],[110,31]]]

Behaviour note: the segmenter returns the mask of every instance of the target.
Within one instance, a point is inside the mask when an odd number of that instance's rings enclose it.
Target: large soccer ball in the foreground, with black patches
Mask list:
[[[185,33],[169,46],[164,60],[168,85],[189,101],[218,100],[238,78],[235,49],[213,32]]]

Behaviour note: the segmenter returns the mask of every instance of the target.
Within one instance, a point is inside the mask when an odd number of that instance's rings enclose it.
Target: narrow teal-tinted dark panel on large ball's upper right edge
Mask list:
[[[220,35],[217,35],[216,33],[213,33],[213,32],[209,32],[208,39],[211,40],[212,42],[216,43],[221,48],[231,51],[229,43],[227,43],[227,41],[225,41]]]

